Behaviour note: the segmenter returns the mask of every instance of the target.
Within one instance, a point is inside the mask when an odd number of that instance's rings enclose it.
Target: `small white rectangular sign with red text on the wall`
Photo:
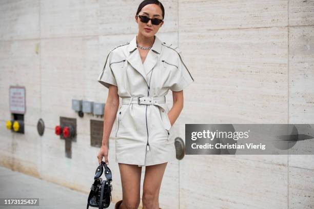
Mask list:
[[[25,87],[10,86],[9,91],[11,113],[25,114]]]

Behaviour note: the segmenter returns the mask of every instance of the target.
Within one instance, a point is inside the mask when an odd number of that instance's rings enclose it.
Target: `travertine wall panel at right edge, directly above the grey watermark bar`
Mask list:
[[[289,28],[289,118],[314,122],[314,27]]]

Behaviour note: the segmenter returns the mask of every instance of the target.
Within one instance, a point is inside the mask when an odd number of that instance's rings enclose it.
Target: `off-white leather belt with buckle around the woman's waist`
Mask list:
[[[171,123],[166,110],[160,104],[166,103],[166,96],[139,96],[139,97],[122,97],[122,105],[156,105],[159,107],[163,125],[166,130],[170,130]]]

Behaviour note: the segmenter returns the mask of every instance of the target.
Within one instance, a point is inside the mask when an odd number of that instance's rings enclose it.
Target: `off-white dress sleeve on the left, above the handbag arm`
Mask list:
[[[104,69],[97,79],[102,85],[104,85],[108,89],[109,89],[109,84],[117,86],[114,74],[112,72],[112,69],[110,68],[111,57],[112,57],[112,52],[110,52],[107,55]]]

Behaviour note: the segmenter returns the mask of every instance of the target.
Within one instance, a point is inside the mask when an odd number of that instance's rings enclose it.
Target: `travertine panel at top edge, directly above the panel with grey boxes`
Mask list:
[[[98,35],[98,0],[41,0],[41,37]]]

